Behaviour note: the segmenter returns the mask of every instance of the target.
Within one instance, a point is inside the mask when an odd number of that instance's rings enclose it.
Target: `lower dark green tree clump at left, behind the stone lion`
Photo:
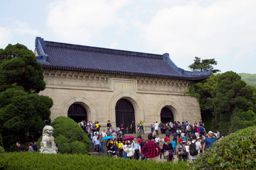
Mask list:
[[[44,102],[46,98],[48,102]],[[0,132],[6,149],[17,141],[31,142],[41,135],[43,122],[49,120],[53,105],[50,98],[13,87],[0,93],[0,101],[3,101],[0,103]]]

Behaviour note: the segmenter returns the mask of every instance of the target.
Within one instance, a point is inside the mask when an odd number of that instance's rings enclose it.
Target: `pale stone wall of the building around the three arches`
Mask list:
[[[53,98],[52,120],[68,116],[68,108],[80,103],[88,120],[98,120],[102,127],[110,120],[115,126],[115,105],[120,98],[132,103],[136,123],[144,120],[146,130],[160,122],[164,107],[171,109],[174,120],[193,123],[201,118],[196,98],[184,95],[190,81],[53,69],[44,69],[44,80],[46,89],[41,94]]]

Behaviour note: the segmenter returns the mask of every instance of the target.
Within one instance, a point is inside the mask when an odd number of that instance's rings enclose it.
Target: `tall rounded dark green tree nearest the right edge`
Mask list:
[[[230,119],[235,109],[240,111],[254,110],[255,101],[252,99],[254,89],[246,86],[235,72],[225,72],[217,79],[213,91],[213,130],[227,134]]]

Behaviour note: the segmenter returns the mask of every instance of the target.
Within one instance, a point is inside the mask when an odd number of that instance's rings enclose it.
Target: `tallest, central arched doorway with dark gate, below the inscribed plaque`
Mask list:
[[[132,106],[132,103],[124,98],[119,99],[115,107],[115,112],[117,127],[124,125],[124,133],[132,133],[130,128],[132,120],[135,122],[134,107]]]

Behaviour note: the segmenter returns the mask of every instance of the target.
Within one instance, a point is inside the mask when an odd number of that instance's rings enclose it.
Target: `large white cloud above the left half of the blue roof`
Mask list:
[[[50,4],[47,25],[68,42],[88,43],[102,30],[124,23],[117,12],[128,0],[63,0]],[[78,40],[80,38],[80,40]]]

